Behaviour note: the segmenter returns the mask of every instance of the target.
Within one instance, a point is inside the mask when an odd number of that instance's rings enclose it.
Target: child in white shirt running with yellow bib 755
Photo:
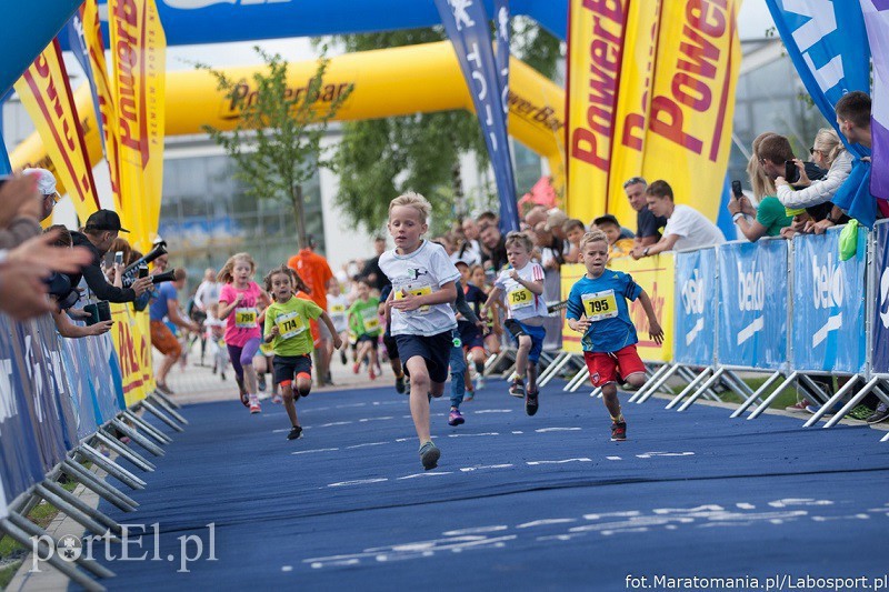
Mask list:
[[[547,301],[543,299],[543,268],[531,262],[533,243],[527,234],[510,232],[507,234],[506,248],[511,269],[500,272],[485,308],[490,309],[495,301],[506,294],[508,318],[503,324],[519,345],[516,352],[516,377],[509,394],[523,397],[525,412],[533,415],[539,407],[537,362],[547,335],[543,328],[548,315]]]

